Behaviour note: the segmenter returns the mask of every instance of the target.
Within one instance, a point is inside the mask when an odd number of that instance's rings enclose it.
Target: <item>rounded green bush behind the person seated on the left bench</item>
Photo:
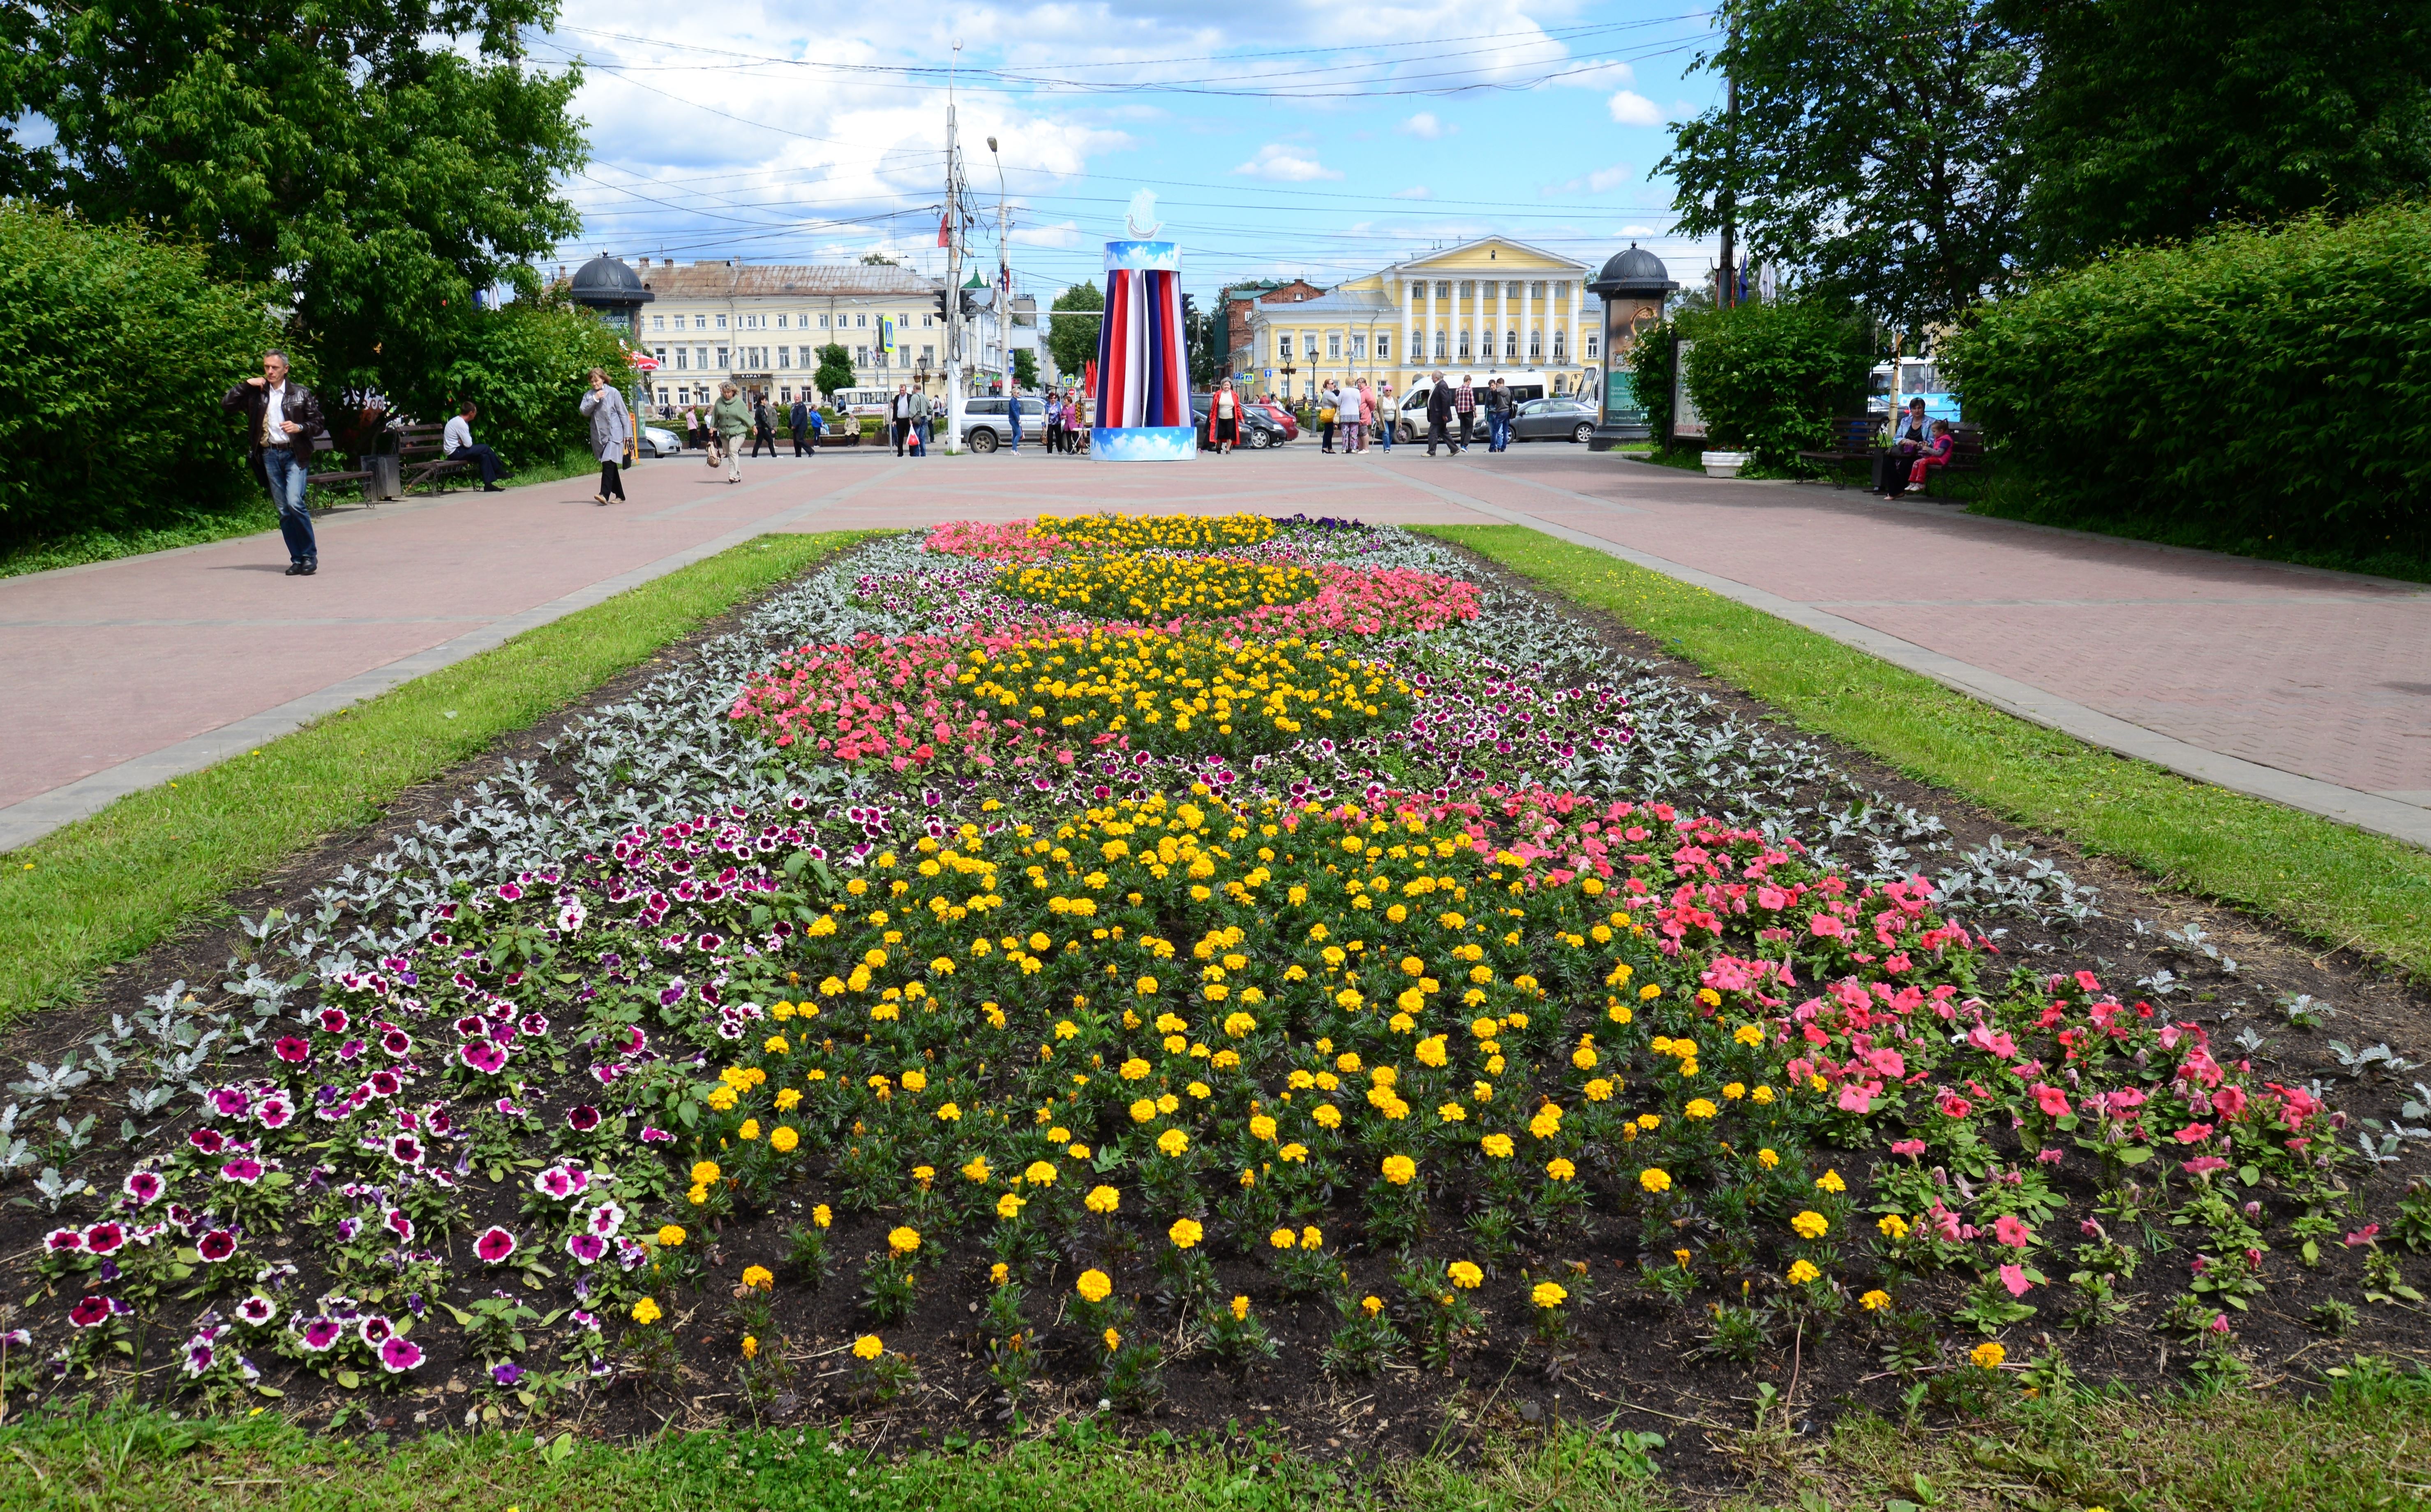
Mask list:
[[[518,299],[491,311],[464,311],[447,343],[445,367],[428,387],[401,389],[406,413],[440,418],[467,399],[481,406],[474,433],[498,447],[508,467],[554,462],[581,450],[591,423],[581,413],[588,372],[625,377],[617,333],[562,292]]]

